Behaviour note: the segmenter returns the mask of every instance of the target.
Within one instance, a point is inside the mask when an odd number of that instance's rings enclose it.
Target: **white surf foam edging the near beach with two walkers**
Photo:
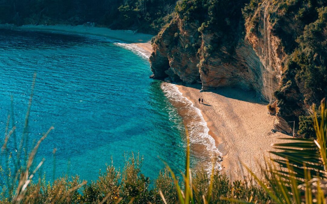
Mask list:
[[[207,122],[204,120],[201,110],[194,106],[194,104],[189,101],[186,97],[182,95],[182,93],[179,91],[178,87],[175,84],[170,84],[163,82],[161,85],[161,88],[165,94],[165,96],[173,100],[175,102],[179,102],[183,105],[185,105],[186,108],[189,108],[191,111],[193,110],[196,115],[192,115],[193,118],[200,118],[200,122],[191,122],[188,124],[188,131],[189,131],[189,137],[190,137],[190,143],[192,144],[200,144],[206,147],[205,151],[208,154],[210,158],[218,156],[222,156],[221,152],[218,150],[218,148],[215,145],[215,139],[209,134],[209,128],[207,126]],[[199,132],[199,130],[201,130]],[[208,158],[200,158],[202,161],[208,161]],[[206,167],[206,170],[208,172],[211,172],[212,169],[212,163],[211,159],[210,162],[207,162],[207,164],[204,164]],[[215,169],[221,169],[220,162],[216,162]]]

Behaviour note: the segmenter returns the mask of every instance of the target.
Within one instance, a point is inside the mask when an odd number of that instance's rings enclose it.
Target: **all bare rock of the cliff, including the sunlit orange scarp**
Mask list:
[[[199,28],[198,22],[185,23],[177,16],[153,41],[152,77],[201,83],[202,90],[218,87],[255,90],[258,97],[269,102],[268,110],[276,116],[276,129],[291,133],[285,112],[274,97],[275,90],[283,84],[287,55],[281,39],[273,32],[268,12],[272,8],[268,2],[255,11],[250,23],[237,25],[238,38],[233,45],[220,42],[214,48],[219,34]]]

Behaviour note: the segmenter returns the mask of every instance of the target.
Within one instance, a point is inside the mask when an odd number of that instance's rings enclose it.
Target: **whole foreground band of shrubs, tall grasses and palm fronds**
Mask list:
[[[27,111],[28,112],[28,111]],[[7,123],[9,124],[9,123]],[[26,123],[28,125],[28,123]],[[290,139],[293,142],[275,144],[282,151],[271,152],[280,159],[267,161],[262,167],[261,180],[247,169],[253,180],[234,181],[218,171],[208,173],[203,169],[190,169],[190,147],[186,147],[186,165],[182,173],[183,186],[169,166],[160,172],[154,187],[141,173],[142,158],[130,154],[122,171],[107,166],[98,180],[87,184],[78,176],[63,177],[53,183],[46,178],[32,180],[42,162],[32,167],[34,157],[41,142],[49,131],[28,154],[25,163],[12,171],[7,163],[0,163],[1,194],[0,203],[326,203],[327,178],[327,115],[326,102],[320,106],[320,122],[315,113],[314,126],[317,140]],[[2,154],[9,155],[6,139]],[[188,135],[186,130],[186,135]],[[22,140],[23,141],[23,140]],[[298,147],[301,148],[298,148]],[[19,149],[19,152],[23,149]],[[12,153],[10,152],[10,155]],[[19,160],[15,160],[15,163]],[[35,166],[35,165],[34,165]],[[277,167],[278,166],[278,167]],[[246,166],[245,166],[246,167]],[[35,169],[34,169],[35,168]],[[246,167],[247,168],[247,167]],[[192,176],[193,175],[193,176]]]

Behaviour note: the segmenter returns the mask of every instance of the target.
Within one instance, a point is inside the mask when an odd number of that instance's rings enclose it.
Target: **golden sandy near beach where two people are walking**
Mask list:
[[[243,165],[256,175],[261,174],[260,165],[265,164],[265,155],[272,150],[272,143],[285,142],[283,133],[273,133],[274,117],[267,113],[267,104],[260,102],[254,92],[237,88],[199,92],[200,86],[177,85],[184,97],[201,110],[222,153],[222,172],[234,179],[247,176]],[[198,103],[204,98],[204,104]]]

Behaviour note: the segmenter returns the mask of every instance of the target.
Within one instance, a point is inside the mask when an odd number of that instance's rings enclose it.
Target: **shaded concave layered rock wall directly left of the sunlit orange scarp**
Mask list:
[[[237,86],[256,90],[260,97],[262,86],[260,60],[247,41],[239,39],[230,53],[225,46],[210,54],[205,52],[213,36],[202,33],[199,73],[203,90]]]

